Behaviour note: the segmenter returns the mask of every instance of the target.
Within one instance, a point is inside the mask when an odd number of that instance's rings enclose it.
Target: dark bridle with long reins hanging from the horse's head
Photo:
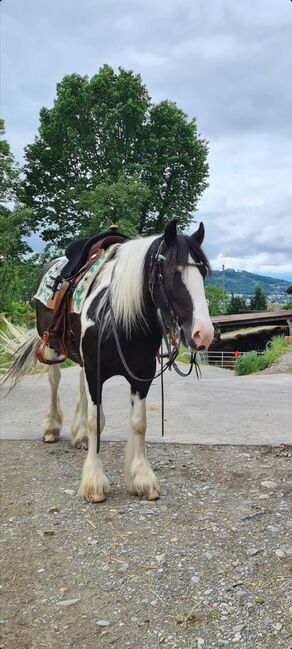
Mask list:
[[[179,348],[181,345],[181,327],[179,326],[178,322],[178,317],[175,313],[175,310],[173,308],[171,299],[167,293],[167,290],[164,285],[164,278],[163,278],[163,272],[162,272],[162,266],[163,263],[166,260],[165,255],[163,254],[166,249],[166,244],[164,239],[159,244],[158,250],[155,253],[155,255],[152,256],[150,260],[150,273],[149,273],[149,281],[148,281],[148,287],[149,287],[149,292],[153,301],[153,304],[157,308],[159,314],[160,314],[160,323],[162,327],[162,335],[163,339],[166,345],[167,353],[163,353],[163,345],[161,342],[161,353],[160,353],[160,364],[161,364],[161,369],[154,374],[154,376],[148,377],[148,378],[142,378],[136,376],[132,370],[129,368],[127,361],[125,359],[121,343],[119,340],[119,335],[117,331],[117,325],[116,325],[116,320],[115,320],[115,315],[113,311],[113,306],[112,306],[112,283],[114,279],[114,272],[115,269],[113,269],[110,284],[107,289],[107,295],[102,307],[101,315],[100,315],[100,322],[99,322],[99,327],[98,327],[98,341],[97,341],[97,449],[96,452],[99,453],[100,450],[100,435],[101,435],[101,430],[100,430],[100,403],[101,403],[101,384],[100,384],[100,362],[101,362],[101,341],[102,341],[102,333],[103,333],[103,326],[104,326],[104,320],[105,320],[105,315],[107,308],[109,309],[110,312],[110,320],[111,320],[111,326],[112,326],[112,332],[113,336],[115,339],[117,351],[120,357],[120,361],[126,370],[127,374],[134,379],[134,381],[137,382],[142,382],[142,383],[149,383],[149,381],[153,381],[154,379],[157,379],[161,377],[161,402],[162,402],[162,408],[161,408],[161,415],[162,415],[162,420],[161,420],[161,430],[162,430],[162,437],[164,437],[164,386],[163,386],[163,375],[166,370],[171,370],[173,367],[175,372],[179,376],[189,376],[193,368],[195,367],[196,370],[196,375],[197,379],[201,378],[201,369],[200,366],[196,360],[196,350],[192,349],[191,351],[191,356],[190,356],[190,367],[187,372],[182,372],[181,369],[178,367],[176,361],[176,358],[179,354]],[[203,267],[205,266],[202,261],[199,262],[189,262],[185,264],[185,266],[195,266],[195,267]],[[162,298],[163,306],[159,306],[156,304],[155,297],[154,297],[154,289],[155,286],[158,282],[158,288],[160,292],[160,296]],[[163,364],[163,359],[164,357],[167,357],[168,360],[165,364]]]

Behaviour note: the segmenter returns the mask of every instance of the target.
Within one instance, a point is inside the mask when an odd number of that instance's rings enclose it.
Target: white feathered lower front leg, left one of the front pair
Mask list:
[[[91,400],[90,403],[92,404]],[[81,483],[78,490],[80,496],[93,502],[102,502],[110,491],[110,483],[106,477],[101,459],[96,453],[97,422],[96,406],[89,408],[88,418],[88,453],[82,469]],[[105,418],[100,406],[100,429],[103,430]]]

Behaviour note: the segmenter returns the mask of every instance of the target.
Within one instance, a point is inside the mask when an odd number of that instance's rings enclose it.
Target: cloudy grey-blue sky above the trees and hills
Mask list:
[[[139,72],[210,142],[196,218],[212,265],[292,280],[291,0],[2,0],[2,114],[17,160],[65,74]]]

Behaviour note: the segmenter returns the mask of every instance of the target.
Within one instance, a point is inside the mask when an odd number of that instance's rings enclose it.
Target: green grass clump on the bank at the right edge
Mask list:
[[[274,336],[261,356],[258,356],[257,352],[248,352],[243,356],[239,356],[235,364],[235,374],[243,376],[244,374],[260,372],[272,365],[287,349],[288,346],[284,337]]]

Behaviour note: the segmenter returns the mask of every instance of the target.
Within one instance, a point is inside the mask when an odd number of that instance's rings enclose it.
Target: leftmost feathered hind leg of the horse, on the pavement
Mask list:
[[[52,443],[59,441],[63,423],[63,413],[58,396],[58,387],[61,378],[59,365],[49,365],[48,378],[51,387],[51,396],[43,421],[43,441]]]

